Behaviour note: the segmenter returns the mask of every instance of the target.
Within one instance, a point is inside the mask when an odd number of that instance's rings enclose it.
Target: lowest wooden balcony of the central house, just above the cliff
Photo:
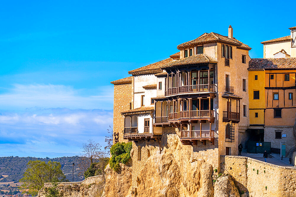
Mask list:
[[[197,144],[197,141],[202,141],[203,144],[209,140],[211,144],[215,144],[214,130],[192,130],[181,131],[181,142],[185,145]]]

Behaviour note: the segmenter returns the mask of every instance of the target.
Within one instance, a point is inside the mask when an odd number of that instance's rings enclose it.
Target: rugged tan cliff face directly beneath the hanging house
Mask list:
[[[129,166],[122,165],[119,173],[107,168],[103,196],[214,196],[213,167],[204,159],[193,159],[192,146],[182,145],[173,133],[163,135],[161,148],[151,144],[146,145],[149,154],[137,173],[137,187],[130,186],[131,174],[135,172],[130,172]],[[135,150],[131,156],[133,161],[138,158]]]

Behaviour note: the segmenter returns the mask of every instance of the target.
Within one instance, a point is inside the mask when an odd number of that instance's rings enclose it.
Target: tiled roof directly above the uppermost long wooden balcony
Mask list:
[[[214,60],[213,58],[205,54],[197,54],[197,55],[189,56],[187,58],[182,58],[176,61],[172,61],[162,66],[162,68],[171,68],[174,66],[181,66],[181,65],[187,65],[187,64],[202,64],[202,63],[210,63],[210,62],[217,63],[218,61]]]

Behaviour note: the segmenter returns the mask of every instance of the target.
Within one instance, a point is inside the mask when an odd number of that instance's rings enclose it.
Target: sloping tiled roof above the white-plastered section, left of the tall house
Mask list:
[[[167,63],[169,63],[170,61],[173,61],[173,59],[172,58],[167,58],[165,60],[158,61],[158,62],[155,62],[153,64],[149,64],[147,66],[143,66],[141,68],[128,71],[128,74],[139,75],[139,74],[158,73],[158,72],[161,72],[160,67],[167,64]]]

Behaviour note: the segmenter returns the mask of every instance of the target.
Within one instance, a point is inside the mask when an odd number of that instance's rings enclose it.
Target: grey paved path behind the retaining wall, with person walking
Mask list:
[[[250,157],[250,158],[257,159],[257,160],[265,162],[264,158],[263,158],[263,154],[242,152],[242,156]],[[281,160],[280,155],[279,154],[274,154],[274,153],[268,155],[268,158],[266,158],[266,162],[274,164],[274,165],[279,165],[279,166],[294,167],[293,165],[289,164],[289,157],[283,157],[283,160]]]

